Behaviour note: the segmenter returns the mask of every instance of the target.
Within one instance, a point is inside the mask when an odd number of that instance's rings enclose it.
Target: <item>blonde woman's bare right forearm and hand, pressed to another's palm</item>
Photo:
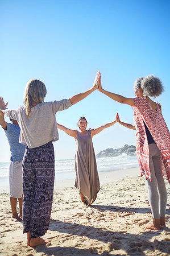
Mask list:
[[[94,82],[93,82],[93,87],[90,88],[89,90],[86,90],[86,92],[79,93],[79,94],[74,95],[73,97],[71,97],[70,98],[71,104],[72,105],[76,104],[78,101],[83,100],[90,93],[94,92],[94,90],[96,90],[98,88],[98,86],[99,86],[99,77],[100,77],[100,73],[98,71],[97,74],[96,74],[96,77],[94,79]]]

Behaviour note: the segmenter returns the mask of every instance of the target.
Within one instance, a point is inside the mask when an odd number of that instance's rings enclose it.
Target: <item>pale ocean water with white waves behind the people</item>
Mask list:
[[[138,167],[136,156],[127,156],[126,154],[113,158],[97,158],[96,160],[99,173]],[[9,164],[10,162],[0,162],[1,187],[9,185]],[[55,160],[55,180],[74,178],[74,159]]]

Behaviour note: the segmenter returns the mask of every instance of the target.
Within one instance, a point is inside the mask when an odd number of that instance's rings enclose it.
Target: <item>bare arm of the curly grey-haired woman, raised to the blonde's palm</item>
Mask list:
[[[126,98],[119,94],[107,92],[107,90],[104,90],[101,85],[101,76],[99,76],[99,88],[98,90],[104,94],[106,94],[108,97],[112,98],[114,101],[118,101],[122,104],[127,104],[130,106],[135,106],[134,100],[132,98]]]

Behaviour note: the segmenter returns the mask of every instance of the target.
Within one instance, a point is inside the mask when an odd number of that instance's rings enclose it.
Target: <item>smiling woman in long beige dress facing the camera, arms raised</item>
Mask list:
[[[80,129],[71,130],[63,125],[57,126],[60,130],[65,131],[68,135],[75,138],[77,143],[75,155],[76,181],[75,187],[78,188],[81,201],[85,205],[92,204],[99,191],[99,177],[97,171],[96,155],[93,148],[92,138],[100,133],[103,129],[114,125],[117,121],[106,123],[97,129],[86,130],[88,122],[85,117],[78,119],[77,125]]]

